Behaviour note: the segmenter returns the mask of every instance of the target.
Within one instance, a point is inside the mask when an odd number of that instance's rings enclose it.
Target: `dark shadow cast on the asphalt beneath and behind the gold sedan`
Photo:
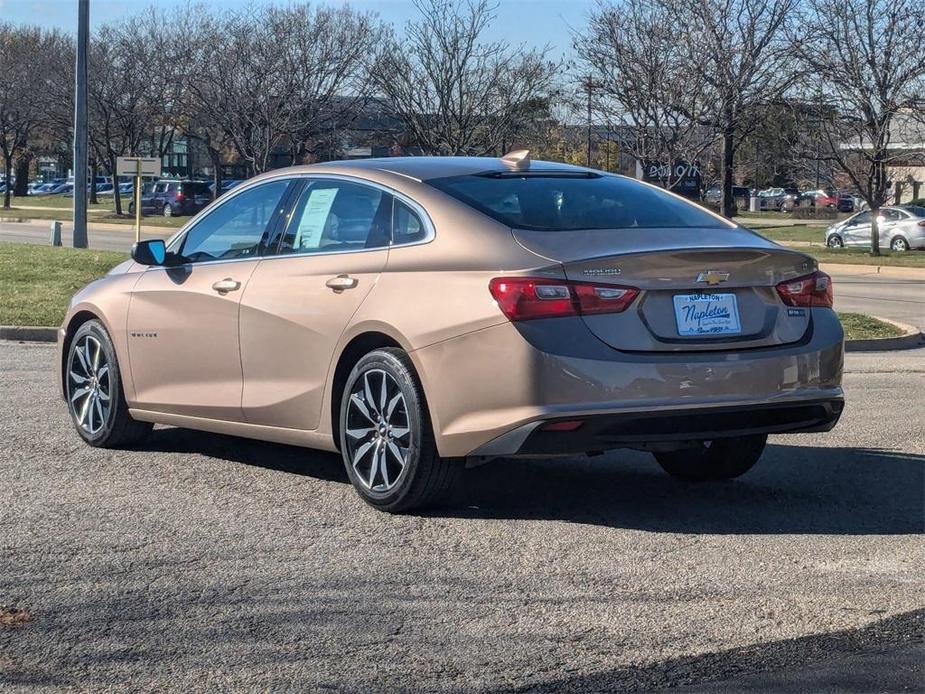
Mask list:
[[[197,453],[347,483],[340,456],[184,429],[156,429],[141,448]],[[690,483],[651,456],[496,460],[467,470],[429,516],[559,520],[652,532],[910,534],[925,532],[925,455],[769,445],[727,482]]]

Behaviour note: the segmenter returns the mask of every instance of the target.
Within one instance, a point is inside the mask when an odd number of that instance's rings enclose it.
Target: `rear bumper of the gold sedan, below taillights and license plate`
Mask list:
[[[444,456],[572,453],[838,421],[844,334],[811,309],[799,342],[724,352],[620,352],[578,319],[504,323],[415,350]],[[543,323],[547,323],[543,325]],[[542,424],[584,420],[572,432]]]

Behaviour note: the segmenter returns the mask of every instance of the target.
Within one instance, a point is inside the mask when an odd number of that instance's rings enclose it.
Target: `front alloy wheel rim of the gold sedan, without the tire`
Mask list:
[[[112,412],[112,370],[100,341],[84,335],[68,365],[68,403],[74,421],[90,436],[109,421]]]

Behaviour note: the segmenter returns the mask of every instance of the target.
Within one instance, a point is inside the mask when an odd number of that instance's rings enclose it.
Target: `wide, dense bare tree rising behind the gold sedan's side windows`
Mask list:
[[[216,166],[226,141],[252,173],[271,168],[280,150],[295,160],[363,98],[366,56],[379,31],[372,15],[347,7],[203,16],[196,74],[186,82],[189,131],[207,143]]]

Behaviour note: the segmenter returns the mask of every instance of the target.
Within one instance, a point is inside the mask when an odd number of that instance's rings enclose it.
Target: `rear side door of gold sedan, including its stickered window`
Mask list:
[[[241,301],[246,421],[318,427],[334,350],[388,259],[391,207],[380,187],[305,179],[277,255]]]

